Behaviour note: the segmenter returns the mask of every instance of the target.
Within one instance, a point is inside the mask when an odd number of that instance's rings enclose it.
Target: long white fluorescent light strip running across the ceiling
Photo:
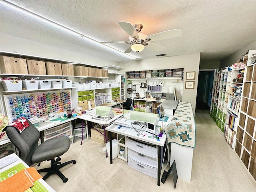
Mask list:
[[[65,26],[63,26],[61,24],[58,24],[58,23],[56,23],[54,21],[51,21],[51,20],[49,20],[47,18],[44,18],[43,16],[40,16],[40,15],[38,15],[38,14],[36,14],[36,13],[26,9],[26,8],[22,8],[22,7],[17,6],[15,4],[13,4],[13,3],[10,3],[8,1],[3,1],[3,0],[1,0],[0,3],[6,5],[6,6],[10,7],[10,8],[12,8],[12,9],[14,9],[14,10],[23,12],[23,13],[27,14],[28,16],[34,17],[34,18],[36,18],[38,20],[41,20],[41,21],[46,22],[48,24],[51,24],[52,26],[58,27],[61,30],[65,30],[67,32],[71,32],[72,34],[79,35],[81,38],[86,38],[86,40],[89,40],[91,43],[95,44],[96,46],[102,46],[102,48],[108,48],[108,50],[113,51],[113,52],[118,52],[119,54],[122,54],[122,56],[126,56],[126,57],[132,58],[132,59],[136,59],[135,57],[130,56],[128,54],[125,54],[123,52],[120,52],[119,50],[116,50],[116,49],[114,49],[114,48],[112,48],[110,46],[101,44],[98,41],[96,41],[96,40],[94,40],[92,38],[89,38],[89,37],[85,36],[82,33],[76,32],[75,30],[72,30],[72,29],[70,29],[68,27],[65,27]]]

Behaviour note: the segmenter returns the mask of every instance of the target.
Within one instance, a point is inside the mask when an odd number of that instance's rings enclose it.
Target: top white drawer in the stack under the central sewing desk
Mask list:
[[[156,145],[150,145],[127,138],[126,146],[127,148],[134,150],[135,152],[139,152],[140,154],[152,158],[158,157],[158,147]]]

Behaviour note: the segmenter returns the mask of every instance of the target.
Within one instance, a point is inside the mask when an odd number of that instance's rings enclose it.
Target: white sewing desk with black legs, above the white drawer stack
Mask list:
[[[164,122],[164,125],[169,124],[171,121],[171,118],[168,118],[167,122]],[[158,124],[160,125],[160,122],[158,122]],[[157,174],[157,185],[160,186],[160,177],[161,177],[161,147],[164,146],[165,142],[166,142],[166,134],[163,134],[162,139],[160,139],[160,141],[157,141],[156,138],[152,139],[152,138],[148,138],[148,136],[151,136],[151,134],[145,133],[146,136],[143,136],[144,134],[142,134],[141,136],[137,136],[137,132],[135,130],[132,129],[127,129],[124,132],[120,131],[118,129],[116,129],[116,124],[112,124],[108,127],[106,127],[106,130],[108,130],[108,134],[109,134],[109,140],[110,140],[110,164],[113,163],[112,160],[112,137],[111,137],[111,132],[114,132],[116,134],[121,134],[124,136],[128,136],[130,138],[134,138],[136,140],[140,140],[140,141],[144,141],[150,144],[154,144],[158,146],[158,174]]]

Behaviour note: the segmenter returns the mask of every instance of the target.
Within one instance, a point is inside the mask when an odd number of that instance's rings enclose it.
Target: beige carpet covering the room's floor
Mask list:
[[[113,164],[106,158],[104,144],[86,140],[70,146],[61,156],[62,161],[77,160],[61,169],[68,178],[67,183],[56,176],[46,182],[56,192],[255,192],[256,181],[236,152],[224,140],[218,126],[208,111],[196,111],[196,148],[194,149],[191,182],[178,178],[176,190],[172,175],[161,186],[157,180],[128,166],[127,162],[115,158]],[[49,162],[43,162],[44,168]]]

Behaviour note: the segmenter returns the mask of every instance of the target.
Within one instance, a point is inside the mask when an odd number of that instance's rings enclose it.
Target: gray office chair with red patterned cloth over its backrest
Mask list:
[[[38,146],[38,140],[40,138],[40,132],[35,128],[28,120],[29,126],[25,128],[21,133],[14,126],[6,126],[2,131],[6,131],[6,134],[10,141],[19,151],[20,158],[31,166],[32,164],[43,162],[45,160],[51,161],[51,167],[38,170],[38,172],[47,172],[44,176],[44,180],[51,174],[57,174],[65,183],[68,181],[60,168],[73,163],[76,164],[76,160],[71,160],[65,163],[60,163],[59,156],[63,155],[70,147],[70,140],[66,136],[60,136],[52,138],[42,142]],[[56,158],[56,160],[55,160]]]

